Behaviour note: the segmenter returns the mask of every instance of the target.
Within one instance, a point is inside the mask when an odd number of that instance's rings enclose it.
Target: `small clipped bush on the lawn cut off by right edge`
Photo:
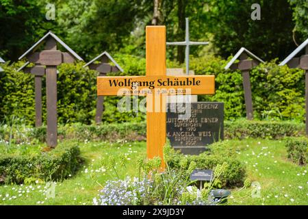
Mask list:
[[[286,138],[287,157],[298,165],[306,165],[308,158],[308,138]]]

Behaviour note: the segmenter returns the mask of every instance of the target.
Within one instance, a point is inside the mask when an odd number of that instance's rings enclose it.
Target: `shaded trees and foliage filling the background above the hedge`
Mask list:
[[[85,60],[104,50],[142,56],[154,2],[168,41],[184,40],[185,17],[192,40],[210,40],[210,47],[192,47],[192,55],[227,58],[246,47],[265,60],[281,60],[308,37],[306,0],[55,0],[54,21],[45,18],[48,0],[0,0],[0,56],[16,61],[49,30]],[[253,3],[261,5],[261,21],[251,19]],[[169,47],[168,57],[183,62],[184,47]]]

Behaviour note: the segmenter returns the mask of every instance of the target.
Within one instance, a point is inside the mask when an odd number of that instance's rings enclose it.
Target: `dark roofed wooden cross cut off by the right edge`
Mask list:
[[[305,49],[305,54],[300,57],[295,57],[303,49]],[[308,39],[286,57],[279,66],[284,66],[285,64],[289,68],[301,68],[305,70],[306,135],[308,135]]]

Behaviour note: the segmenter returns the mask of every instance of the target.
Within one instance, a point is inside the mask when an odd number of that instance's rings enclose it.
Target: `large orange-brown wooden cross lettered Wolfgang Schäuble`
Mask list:
[[[175,81],[181,81],[182,83],[179,85],[174,83]],[[136,85],[138,85],[138,90],[134,89]],[[97,77],[98,96],[117,95],[120,88],[125,89],[123,93],[127,95],[147,95],[146,153],[149,159],[161,157],[162,169],[164,169],[163,147],[166,144],[166,95],[172,94],[174,90],[179,88],[183,92],[190,89],[189,94],[214,94],[215,76],[166,76],[166,27],[147,26],[146,76]],[[159,90],[159,88],[163,89]],[[145,92],[142,92],[142,89],[145,89]],[[166,93],[162,94],[164,89]]]

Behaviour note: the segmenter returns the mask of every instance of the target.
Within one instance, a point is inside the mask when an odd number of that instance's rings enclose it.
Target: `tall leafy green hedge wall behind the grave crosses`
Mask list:
[[[111,75],[144,75],[145,59],[133,55],[114,54],[114,59],[125,73]],[[300,69],[278,66],[277,60],[260,64],[251,70],[254,116],[259,120],[305,120],[305,73]],[[0,123],[12,120],[14,115],[23,123],[34,125],[34,76],[17,73],[12,66],[3,66],[0,73]],[[227,60],[205,55],[192,57],[190,65],[196,75],[215,75],[216,94],[199,95],[199,101],[224,102],[226,120],[245,116],[242,73],[239,70],[224,70]],[[83,68],[84,63],[58,66],[57,111],[58,122],[91,124],[94,121],[96,100],[96,77],[93,70]],[[184,67],[167,60],[168,68]],[[43,81],[43,121],[46,121],[46,96]],[[116,96],[105,97],[103,121],[106,123],[140,122],[145,114],[120,113],[116,110]]]

